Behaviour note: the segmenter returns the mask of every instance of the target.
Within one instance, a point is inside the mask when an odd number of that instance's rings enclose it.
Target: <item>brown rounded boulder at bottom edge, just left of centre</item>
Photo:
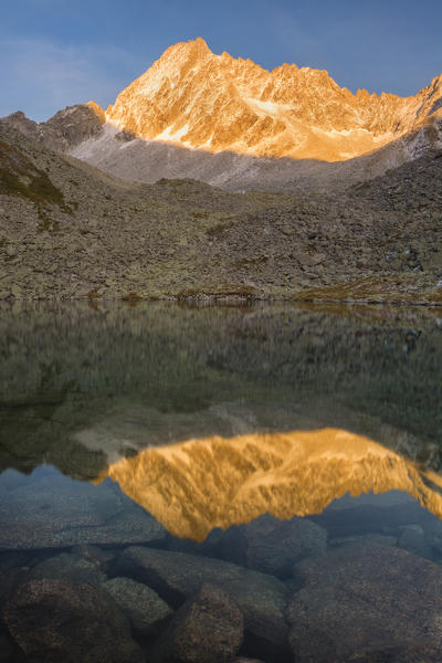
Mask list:
[[[177,611],[152,652],[155,663],[230,663],[243,640],[243,617],[228,593],[212,585]]]

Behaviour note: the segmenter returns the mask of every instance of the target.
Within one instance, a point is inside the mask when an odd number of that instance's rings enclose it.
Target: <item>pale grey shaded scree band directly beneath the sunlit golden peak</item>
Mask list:
[[[391,168],[439,150],[442,122],[434,119],[385,147],[345,161],[256,157],[232,150],[210,152],[173,143],[144,140],[105,125],[74,147],[78,159],[127,180],[155,182],[192,178],[231,191],[338,193]]]

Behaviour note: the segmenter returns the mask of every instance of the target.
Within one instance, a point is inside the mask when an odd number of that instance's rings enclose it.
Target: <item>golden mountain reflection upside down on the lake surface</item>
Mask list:
[[[435,473],[339,429],[189,440],[119,460],[98,482],[107,476],[171,534],[198,541],[266,512],[318,514],[346,493],[404,491],[442,515]]]

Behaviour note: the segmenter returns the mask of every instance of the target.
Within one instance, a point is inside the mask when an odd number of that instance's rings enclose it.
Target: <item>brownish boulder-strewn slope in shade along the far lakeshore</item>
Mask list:
[[[0,125],[0,297],[440,303],[440,152],[341,196],[131,183]]]

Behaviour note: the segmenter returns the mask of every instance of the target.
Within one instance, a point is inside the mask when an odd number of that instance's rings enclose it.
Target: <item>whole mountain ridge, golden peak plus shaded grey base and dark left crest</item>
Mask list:
[[[356,95],[326,71],[170,46],[105,113],[0,120],[114,176],[193,178],[230,190],[341,191],[442,147],[442,76],[415,96]]]

